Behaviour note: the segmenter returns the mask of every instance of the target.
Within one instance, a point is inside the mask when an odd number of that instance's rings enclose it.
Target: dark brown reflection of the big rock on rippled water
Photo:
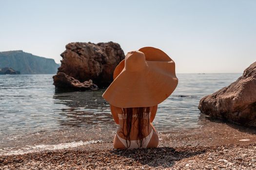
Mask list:
[[[98,91],[77,91],[55,93],[55,104],[65,104],[68,108],[61,108],[55,112],[66,119],[57,120],[61,126],[93,128],[116,127],[110,113],[108,103],[101,97],[104,89]],[[61,111],[61,112],[60,112]]]

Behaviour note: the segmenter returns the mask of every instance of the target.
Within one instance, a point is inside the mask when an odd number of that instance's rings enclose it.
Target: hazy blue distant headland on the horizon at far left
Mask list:
[[[0,68],[10,67],[20,74],[55,74],[59,65],[54,59],[39,57],[23,51],[0,52]]]

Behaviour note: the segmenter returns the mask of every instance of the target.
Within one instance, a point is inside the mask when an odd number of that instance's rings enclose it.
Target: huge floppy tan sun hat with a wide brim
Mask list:
[[[102,97],[120,108],[158,105],[178,83],[175,62],[154,47],[128,52],[115,68],[113,78]]]

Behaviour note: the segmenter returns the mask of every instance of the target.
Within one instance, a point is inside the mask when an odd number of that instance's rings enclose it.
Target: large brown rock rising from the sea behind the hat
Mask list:
[[[114,42],[69,43],[60,54],[63,58],[54,85],[60,88],[83,88],[80,82],[92,80],[99,87],[107,87],[113,81],[113,72],[125,55],[119,44]],[[61,77],[61,78],[60,78]],[[71,83],[70,81],[76,81]],[[72,84],[72,85],[71,85]],[[90,87],[91,88],[91,87]]]

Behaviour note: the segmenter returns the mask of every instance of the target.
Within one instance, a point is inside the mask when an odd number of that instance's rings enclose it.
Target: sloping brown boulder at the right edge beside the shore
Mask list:
[[[212,117],[256,127],[256,62],[236,82],[203,97],[198,109]]]

